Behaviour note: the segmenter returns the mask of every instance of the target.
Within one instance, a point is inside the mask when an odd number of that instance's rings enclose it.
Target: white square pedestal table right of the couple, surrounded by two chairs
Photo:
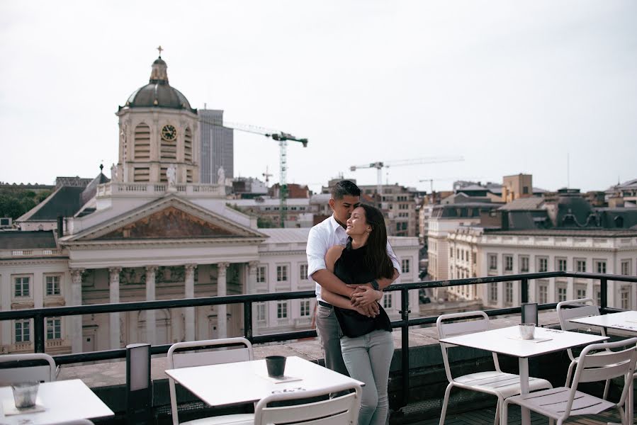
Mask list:
[[[529,394],[529,357],[563,351],[566,348],[584,346],[608,339],[607,336],[580,334],[577,332],[558,331],[538,327],[535,329],[535,339],[524,341],[519,339],[517,326],[488,331],[476,332],[443,338],[440,341],[446,344],[478,348],[518,358],[520,391]],[[539,342],[542,340],[541,342]],[[531,423],[529,409],[522,409],[522,424]]]

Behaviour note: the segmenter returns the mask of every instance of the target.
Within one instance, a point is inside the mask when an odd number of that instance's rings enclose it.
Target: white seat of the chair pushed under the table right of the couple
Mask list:
[[[459,387],[482,390],[491,394],[497,392],[504,398],[520,393],[520,376],[513,373],[497,372],[497,370],[469,373],[468,375],[454,378],[453,382]],[[551,388],[551,382],[545,379],[529,377],[529,391],[546,388]]]

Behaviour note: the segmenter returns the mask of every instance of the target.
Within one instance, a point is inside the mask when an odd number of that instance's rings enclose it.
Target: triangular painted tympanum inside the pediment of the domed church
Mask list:
[[[192,237],[238,236],[230,230],[169,207],[93,240],[113,239],[184,239]]]

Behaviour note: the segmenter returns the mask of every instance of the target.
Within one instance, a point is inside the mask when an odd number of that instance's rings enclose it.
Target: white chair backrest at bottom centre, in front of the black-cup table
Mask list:
[[[340,397],[329,398],[329,393],[354,390]],[[294,404],[292,406],[267,407],[271,402],[311,399],[326,396],[319,402]],[[321,390],[279,392],[269,395],[257,403],[254,409],[254,425],[303,424],[303,425],[356,425],[361,409],[361,386],[349,384],[331,385]]]

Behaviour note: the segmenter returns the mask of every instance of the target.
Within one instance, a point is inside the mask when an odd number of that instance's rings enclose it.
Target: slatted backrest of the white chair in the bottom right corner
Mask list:
[[[612,351],[618,348],[618,351]],[[617,403],[619,406],[623,405],[633,380],[636,361],[637,338],[586,346],[577,361],[566,414],[569,414],[573,406],[575,391],[580,382],[598,382],[624,376],[624,390]]]

